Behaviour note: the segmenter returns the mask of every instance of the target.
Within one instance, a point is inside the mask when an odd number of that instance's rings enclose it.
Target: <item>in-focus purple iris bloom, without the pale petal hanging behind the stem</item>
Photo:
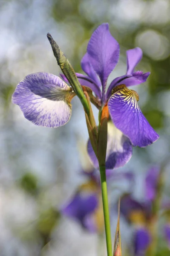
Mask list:
[[[155,142],[158,134],[141,113],[137,93],[128,87],[145,82],[150,73],[134,72],[142,58],[142,51],[140,48],[130,49],[127,51],[127,73],[115,78],[106,92],[107,78],[118,63],[119,51],[119,44],[110,34],[109,25],[101,24],[93,32],[87,53],[81,61],[87,76],[77,76],[82,85],[92,89],[102,106],[108,103],[109,114],[116,128],[134,146],[145,147]],[[118,87],[120,84],[124,85]],[[26,119],[35,125],[59,127],[70,119],[70,102],[74,96],[72,88],[58,76],[40,72],[20,81],[12,102],[19,105]]]

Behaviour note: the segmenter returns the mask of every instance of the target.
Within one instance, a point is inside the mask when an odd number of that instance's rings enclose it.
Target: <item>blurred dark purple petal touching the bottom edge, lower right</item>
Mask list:
[[[135,256],[144,256],[151,238],[148,230],[140,227],[134,233]]]

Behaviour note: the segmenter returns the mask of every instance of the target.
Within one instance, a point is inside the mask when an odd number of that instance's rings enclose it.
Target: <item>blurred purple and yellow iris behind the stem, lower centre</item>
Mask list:
[[[104,230],[104,216],[101,197],[100,175],[97,169],[91,172],[82,171],[81,174],[88,178],[88,181],[78,187],[76,193],[61,207],[61,214],[78,221],[82,227],[89,232],[102,232]],[[133,179],[132,175],[124,172],[114,173],[106,170],[107,183],[114,180]]]

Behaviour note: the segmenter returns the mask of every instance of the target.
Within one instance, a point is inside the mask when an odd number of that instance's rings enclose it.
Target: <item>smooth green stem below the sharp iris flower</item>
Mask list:
[[[107,256],[112,256],[112,237],[110,231],[110,221],[109,221],[109,204],[107,198],[107,182],[106,182],[106,168],[105,166],[100,166],[101,174],[101,193],[103,201],[103,212],[104,212],[104,225],[106,233],[106,244],[107,244]]]

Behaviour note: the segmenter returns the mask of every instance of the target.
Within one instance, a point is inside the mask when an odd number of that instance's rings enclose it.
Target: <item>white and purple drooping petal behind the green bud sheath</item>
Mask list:
[[[92,163],[98,168],[98,160],[92,149],[90,140],[87,151]],[[124,166],[131,158],[133,147],[130,140],[111,122],[108,123],[106,169],[117,169]]]

